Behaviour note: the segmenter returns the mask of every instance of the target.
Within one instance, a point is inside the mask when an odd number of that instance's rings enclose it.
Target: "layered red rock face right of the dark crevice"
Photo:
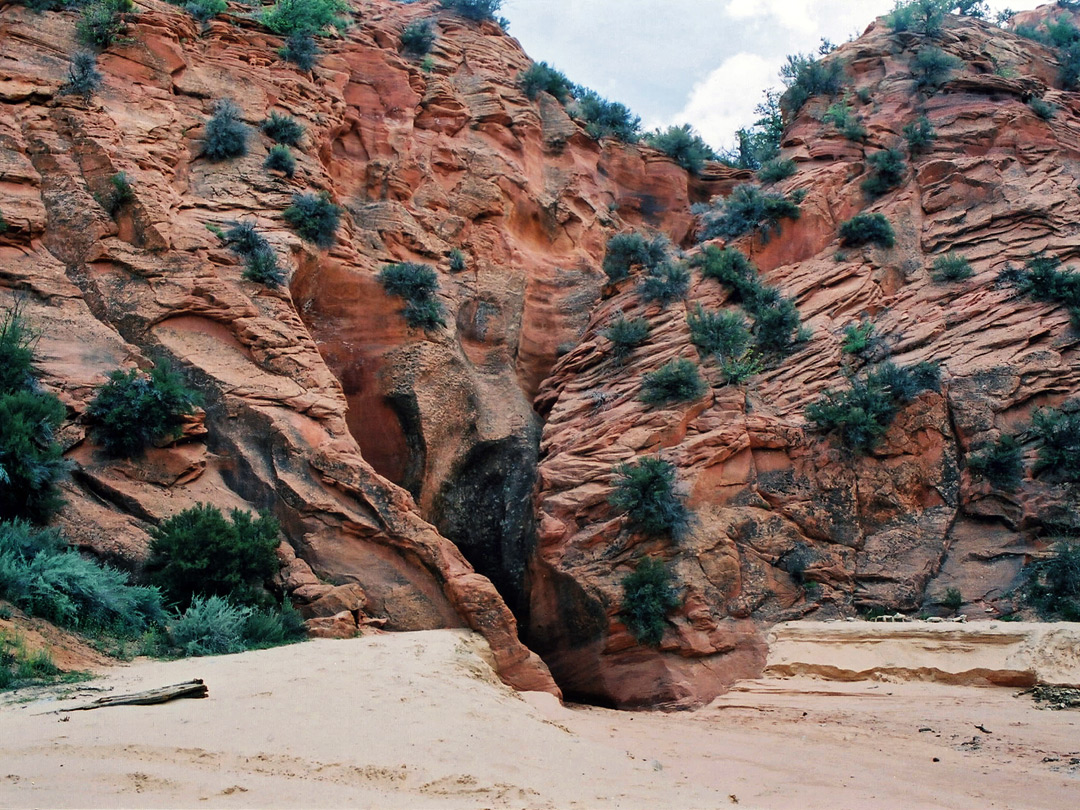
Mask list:
[[[755,622],[944,610],[949,589],[973,613],[996,612],[1045,523],[1075,503],[1052,476],[1032,477],[1037,446],[1022,430],[1035,406],[1078,391],[1077,336],[1064,308],[1020,297],[997,274],[1039,252],[1076,256],[1076,96],[1055,84],[1050,51],[993,26],[950,17],[935,42],[923,39],[878,23],[837,52],[849,89],[869,97],[850,98],[866,143],[821,123],[831,100],[808,102],[784,140],[798,173],[781,184],[807,192],[801,217],[767,244],[737,243],[796,299],[809,341],[748,384],[725,387],[686,323],[699,303],[731,306],[724,287],[696,275],[688,300],[661,310],[626,282],[607,291],[541,388],[529,638],[568,691],[620,705],[707,701],[759,671]],[[923,44],[963,64],[929,95],[910,67]],[[1031,96],[1056,116],[1037,117]],[[900,188],[867,199],[866,156],[906,152],[902,129],[920,114],[936,140]],[[861,211],[887,216],[895,247],[840,245],[839,225]],[[933,282],[933,259],[950,251],[975,275]],[[624,364],[602,335],[619,312],[652,328]],[[841,350],[845,327],[864,316],[882,338],[868,361]],[[940,363],[941,391],[905,406],[865,455],[812,431],[807,403],[886,354]],[[638,401],[643,375],[679,356],[702,362],[707,395],[661,408]],[[1014,492],[967,470],[968,455],[1002,433],[1026,440],[1029,472]],[[678,541],[631,534],[608,504],[615,467],[649,454],[675,464],[693,513]],[[646,555],[667,563],[683,595],[653,650],[634,643],[620,613],[622,579]]]

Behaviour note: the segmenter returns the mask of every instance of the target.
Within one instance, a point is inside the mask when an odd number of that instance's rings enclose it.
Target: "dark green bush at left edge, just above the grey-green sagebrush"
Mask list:
[[[56,432],[66,413],[53,394],[0,394],[0,519],[44,523],[63,504],[56,485],[67,462]]]

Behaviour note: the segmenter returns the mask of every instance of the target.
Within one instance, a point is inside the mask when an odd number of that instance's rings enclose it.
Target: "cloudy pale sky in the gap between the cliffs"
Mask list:
[[[1016,11],[1039,0],[1008,0]],[[692,124],[727,148],[789,53],[846,42],[893,0],[503,0],[528,54],[622,102],[647,129]]]

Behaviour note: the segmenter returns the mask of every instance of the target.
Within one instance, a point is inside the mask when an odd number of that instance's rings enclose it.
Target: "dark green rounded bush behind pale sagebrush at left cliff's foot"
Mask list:
[[[194,596],[224,596],[238,605],[267,602],[266,583],[281,564],[278,521],[234,509],[230,519],[208,503],[186,509],[150,530],[147,573],[181,607]]]

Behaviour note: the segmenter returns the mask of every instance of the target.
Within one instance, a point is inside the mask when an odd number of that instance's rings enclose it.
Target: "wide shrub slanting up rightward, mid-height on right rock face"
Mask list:
[[[908,368],[883,363],[876,372],[851,380],[851,387],[827,390],[807,406],[807,419],[818,430],[835,432],[849,449],[867,453],[878,445],[902,405],[920,391],[940,386],[932,364]]]

